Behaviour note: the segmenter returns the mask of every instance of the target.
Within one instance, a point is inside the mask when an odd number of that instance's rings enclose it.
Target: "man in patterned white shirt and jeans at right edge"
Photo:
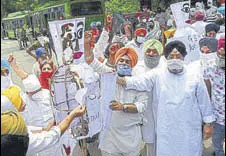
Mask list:
[[[217,117],[214,123],[213,144],[216,156],[223,156],[222,142],[225,138],[225,38],[218,42],[217,57],[208,62],[204,79]]]

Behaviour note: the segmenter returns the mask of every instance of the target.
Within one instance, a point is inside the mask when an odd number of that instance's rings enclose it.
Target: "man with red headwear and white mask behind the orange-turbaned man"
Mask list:
[[[146,25],[139,24],[136,26],[135,39],[126,44],[126,47],[132,47],[138,53],[138,60],[144,60],[144,42],[146,41]]]

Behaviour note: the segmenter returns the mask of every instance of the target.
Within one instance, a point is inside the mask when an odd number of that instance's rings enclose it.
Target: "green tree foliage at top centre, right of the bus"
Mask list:
[[[140,0],[111,0],[105,2],[105,9],[108,14],[137,12],[140,9]]]

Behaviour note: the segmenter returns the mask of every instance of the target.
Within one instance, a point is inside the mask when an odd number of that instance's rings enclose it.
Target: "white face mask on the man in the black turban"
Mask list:
[[[184,61],[179,59],[167,60],[167,67],[171,73],[181,73],[184,70]]]

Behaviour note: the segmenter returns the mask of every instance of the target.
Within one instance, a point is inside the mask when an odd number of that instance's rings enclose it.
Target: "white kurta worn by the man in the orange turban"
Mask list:
[[[111,68],[97,60],[91,63],[91,67],[100,74],[112,72]],[[121,104],[135,104],[138,113],[113,111],[109,127],[101,132],[100,149],[110,154],[134,153],[138,156],[142,146],[141,124],[147,107],[147,93],[126,90],[117,85],[116,100]]]

